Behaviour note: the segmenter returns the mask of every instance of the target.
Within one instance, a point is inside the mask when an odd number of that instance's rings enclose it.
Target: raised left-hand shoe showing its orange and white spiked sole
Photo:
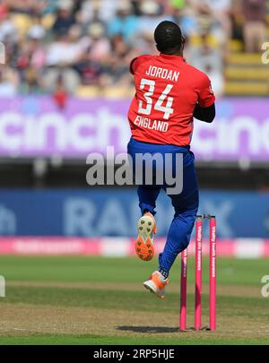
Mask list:
[[[137,223],[138,236],[135,251],[143,261],[151,261],[154,255],[153,239],[157,232],[156,221],[151,212],[146,212]]]

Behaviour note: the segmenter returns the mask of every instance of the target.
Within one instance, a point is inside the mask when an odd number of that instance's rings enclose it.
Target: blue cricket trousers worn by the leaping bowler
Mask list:
[[[135,159],[135,154],[140,153],[161,153],[164,156],[167,153],[172,154],[172,163],[175,163],[173,157],[177,153],[183,154],[183,190],[180,194],[168,194],[172,205],[175,209],[174,219],[169,227],[169,233],[163,252],[159,255],[160,268],[169,272],[172,264],[178,254],[187,248],[192,230],[195,225],[195,216],[199,205],[199,193],[197,178],[195,173],[195,156],[189,147],[179,147],[174,145],[161,145],[155,143],[141,143],[133,138],[127,146],[128,154]],[[174,165],[172,166],[174,168]],[[165,169],[165,162],[163,165]],[[135,171],[135,170],[134,170]],[[139,206],[142,214],[145,211],[155,214],[156,200],[163,189],[166,191],[165,181],[163,185],[138,186]]]

